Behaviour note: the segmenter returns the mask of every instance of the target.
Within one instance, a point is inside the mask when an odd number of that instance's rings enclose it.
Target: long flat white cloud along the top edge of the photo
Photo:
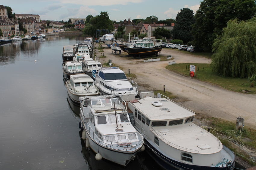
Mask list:
[[[117,1],[117,0],[97,0],[97,1],[85,1],[85,0],[76,0],[70,2],[70,0],[60,0],[63,4],[80,4],[86,6],[111,6],[111,5],[127,5],[132,3],[141,3],[143,0],[129,0],[129,1]]]

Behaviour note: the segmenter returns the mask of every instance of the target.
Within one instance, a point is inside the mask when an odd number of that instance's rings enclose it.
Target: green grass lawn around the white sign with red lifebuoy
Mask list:
[[[194,77],[195,79],[199,79],[204,82],[210,82],[231,91],[242,92],[242,90],[245,90],[249,91],[248,94],[256,94],[256,85],[251,87],[251,82],[249,82],[247,78],[240,79],[217,76],[212,73],[210,64],[183,63],[168,65],[166,68],[184,76],[189,76],[190,64],[196,66],[196,75]]]

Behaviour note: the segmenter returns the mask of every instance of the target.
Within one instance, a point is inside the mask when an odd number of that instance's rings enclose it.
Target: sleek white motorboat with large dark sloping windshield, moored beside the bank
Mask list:
[[[101,67],[93,70],[95,85],[103,94],[122,97],[124,100],[134,100],[138,94],[137,83],[127,79],[119,67]],[[94,74],[96,72],[96,74]]]

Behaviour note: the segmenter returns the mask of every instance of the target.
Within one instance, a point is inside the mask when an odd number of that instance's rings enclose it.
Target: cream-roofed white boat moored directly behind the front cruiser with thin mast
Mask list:
[[[79,97],[99,95],[99,89],[94,85],[94,80],[87,74],[71,75],[66,82],[67,93],[75,103],[80,103]]]

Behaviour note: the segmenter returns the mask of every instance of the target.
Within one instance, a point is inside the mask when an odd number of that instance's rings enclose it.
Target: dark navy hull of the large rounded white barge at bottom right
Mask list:
[[[229,167],[214,167],[214,166],[196,166],[185,164],[180,161],[173,160],[171,158],[167,158],[161,152],[159,152],[156,148],[154,148],[147,139],[144,140],[145,148],[147,153],[152,157],[163,169],[169,170],[172,168],[179,170],[232,170],[235,166],[235,162],[233,161],[232,165]],[[224,146],[223,146],[224,147]],[[228,149],[228,148],[226,148]]]

